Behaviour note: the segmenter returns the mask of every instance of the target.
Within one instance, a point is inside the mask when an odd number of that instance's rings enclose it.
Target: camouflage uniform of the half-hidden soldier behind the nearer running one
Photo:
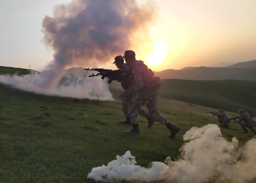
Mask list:
[[[130,68],[126,64],[123,64],[122,68],[120,69],[129,70]],[[128,90],[129,88],[132,88],[132,86],[134,85],[133,77],[131,76],[131,74],[123,74],[121,77],[117,78],[117,81],[121,82],[121,86],[124,90]],[[126,115],[126,117],[129,117],[127,116],[128,103],[131,101],[131,98],[134,98],[134,96],[132,94],[127,94],[122,101],[122,110],[123,110],[123,113]],[[144,110],[142,106],[138,107],[137,110],[139,115],[141,115],[142,117],[150,118],[150,114],[146,110]]]

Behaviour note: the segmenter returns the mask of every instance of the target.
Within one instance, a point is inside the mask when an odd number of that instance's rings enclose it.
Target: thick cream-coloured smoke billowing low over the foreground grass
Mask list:
[[[88,179],[111,182],[116,180],[168,182],[255,182],[256,139],[238,147],[238,139],[228,142],[216,124],[192,127],[183,136],[180,158],[166,164],[152,162],[148,168],[137,165],[135,157],[127,151],[108,165],[96,167]]]

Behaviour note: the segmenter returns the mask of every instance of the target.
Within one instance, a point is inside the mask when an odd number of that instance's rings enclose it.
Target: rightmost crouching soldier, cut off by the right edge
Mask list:
[[[256,123],[253,119],[253,117],[245,112],[243,109],[238,110],[238,113],[240,115],[240,118],[238,120],[234,120],[235,123],[240,123],[242,129],[245,133],[248,133],[247,128],[249,128],[254,134],[256,134],[256,131],[254,130],[254,127],[256,126]]]

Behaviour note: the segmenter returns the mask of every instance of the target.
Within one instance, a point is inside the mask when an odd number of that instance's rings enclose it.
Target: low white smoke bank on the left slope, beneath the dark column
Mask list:
[[[82,68],[58,70],[51,85],[48,85],[49,75],[33,72],[24,76],[0,75],[0,82],[13,88],[33,91],[39,94],[57,95],[61,97],[89,98],[113,100],[105,80],[101,77],[88,77],[88,71]],[[49,71],[52,73],[52,70]]]

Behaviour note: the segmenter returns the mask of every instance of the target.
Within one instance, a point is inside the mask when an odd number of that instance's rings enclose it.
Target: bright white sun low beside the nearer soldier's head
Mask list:
[[[167,45],[163,41],[155,41],[154,50],[145,56],[149,65],[158,66],[163,63],[167,56]]]

